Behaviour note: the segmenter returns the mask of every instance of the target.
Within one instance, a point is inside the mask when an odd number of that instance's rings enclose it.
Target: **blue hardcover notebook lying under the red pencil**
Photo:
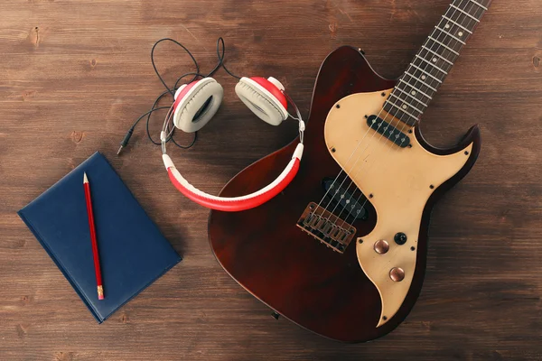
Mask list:
[[[105,300],[98,301],[83,172],[94,208]],[[103,322],[181,261],[100,153],[18,212],[92,315]]]

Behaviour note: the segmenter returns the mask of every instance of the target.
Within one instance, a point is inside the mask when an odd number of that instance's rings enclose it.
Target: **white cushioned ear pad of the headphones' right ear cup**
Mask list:
[[[258,89],[250,79],[240,79],[235,86],[235,92],[252,113],[264,122],[270,125],[280,125],[285,120],[286,116],[277,104],[278,101]]]

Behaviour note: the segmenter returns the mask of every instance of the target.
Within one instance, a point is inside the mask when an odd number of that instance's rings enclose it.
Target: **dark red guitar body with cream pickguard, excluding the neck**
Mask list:
[[[316,80],[304,156],[293,182],[258,208],[210,213],[210,245],[226,272],[278,314],[327,338],[368,341],[406,318],[424,280],[431,209],[480,152],[477,126],[445,150],[426,143],[417,126],[404,128],[411,144],[406,148],[369,129],[366,116],[378,114],[395,85],[379,77],[360,51],[333,51]],[[354,162],[350,155],[359,144],[367,150]],[[220,195],[266,186],[289,162],[295,145],[248,166]],[[297,226],[307,205],[326,194],[322,180],[341,171],[368,197],[367,218],[350,223],[355,236],[344,253]],[[394,242],[398,233],[407,236],[401,245]],[[387,241],[385,254],[375,252],[378,240]],[[393,268],[403,271],[400,281],[392,279]]]

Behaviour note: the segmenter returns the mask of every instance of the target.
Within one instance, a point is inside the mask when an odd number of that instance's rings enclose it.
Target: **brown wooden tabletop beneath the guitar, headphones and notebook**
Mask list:
[[[224,273],[207,241],[208,212],[169,183],[160,150],[137,128],[162,91],[149,61],[173,37],[201,66],[227,42],[230,69],[283,80],[306,114],[325,55],[350,44],[393,78],[447,0],[327,2],[4,1],[0,23],[0,359],[541,359],[542,4],[496,0],[425,114],[435,145],[474,123],[483,146],[472,172],[437,205],[427,273],[406,321],[385,338],[342,345],[266,307]],[[170,82],[190,69],[158,51]],[[217,193],[249,163],[289,143],[225,86],[219,115],[190,151],[171,149],[192,183]],[[157,134],[161,116],[152,129]],[[189,141],[188,137],[179,137]],[[97,325],[15,214],[96,150],[104,153],[184,261]]]

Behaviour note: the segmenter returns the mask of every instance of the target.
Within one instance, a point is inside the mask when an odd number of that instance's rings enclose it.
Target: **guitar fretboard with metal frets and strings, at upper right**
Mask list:
[[[386,100],[391,116],[416,125],[488,10],[491,0],[454,0]]]

